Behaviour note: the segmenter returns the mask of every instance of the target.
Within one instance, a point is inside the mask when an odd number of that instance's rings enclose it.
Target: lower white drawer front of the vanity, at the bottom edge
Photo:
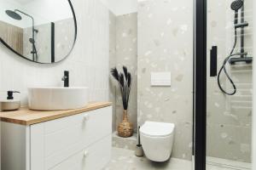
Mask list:
[[[111,158],[111,135],[62,161],[50,170],[101,170]]]

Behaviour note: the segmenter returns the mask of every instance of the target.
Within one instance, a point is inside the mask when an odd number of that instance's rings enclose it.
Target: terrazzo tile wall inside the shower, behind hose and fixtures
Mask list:
[[[211,0],[208,2],[208,60],[212,45],[218,46],[218,69],[234,43],[234,11],[232,1]],[[252,3],[245,1],[245,50],[252,56]],[[238,31],[240,33],[240,31]],[[239,52],[240,38],[236,52]],[[209,68],[209,62],[208,67]],[[207,76],[207,156],[235,161],[251,161],[252,130],[252,65],[227,65],[236,83],[237,93],[227,96],[220,92],[217,78]],[[232,91],[224,76],[221,84]]]

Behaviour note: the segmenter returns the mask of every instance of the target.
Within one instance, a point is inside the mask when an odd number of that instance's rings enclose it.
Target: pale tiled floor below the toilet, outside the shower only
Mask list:
[[[192,170],[192,162],[172,158],[164,163],[148,161],[145,157],[137,157],[133,150],[114,148],[112,160],[103,170]]]

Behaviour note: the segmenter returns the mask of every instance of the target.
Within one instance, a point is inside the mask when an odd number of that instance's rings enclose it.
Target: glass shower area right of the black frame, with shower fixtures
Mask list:
[[[253,0],[207,2],[207,170],[251,169]]]

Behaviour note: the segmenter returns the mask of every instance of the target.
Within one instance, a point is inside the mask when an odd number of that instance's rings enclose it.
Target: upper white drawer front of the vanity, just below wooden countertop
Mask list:
[[[51,169],[111,132],[111,106],[32,125],[32,169]]]

